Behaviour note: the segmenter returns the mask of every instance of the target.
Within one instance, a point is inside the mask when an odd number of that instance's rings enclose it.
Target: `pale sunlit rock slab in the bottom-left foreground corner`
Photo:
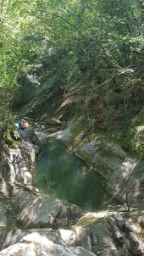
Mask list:
[[[5,248],[7,247],[8,248]],[[66,245],[53,231],[10,231],[5,238],[0,255],[42,255],[42,256],[94,256],[84,248]]]

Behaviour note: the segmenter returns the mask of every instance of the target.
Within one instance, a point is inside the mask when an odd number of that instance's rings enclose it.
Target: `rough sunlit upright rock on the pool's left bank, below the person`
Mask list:
[[[21,148],[8,148],[0,168],[2,196],[14,194],[21,186],[32,186],[34,161],[35,150],[30,142],[23,141]]]

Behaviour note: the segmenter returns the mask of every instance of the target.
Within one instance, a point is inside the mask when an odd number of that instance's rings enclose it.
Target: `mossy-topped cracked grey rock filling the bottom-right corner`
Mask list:
[[[100,213],[85,214],[72,226],[71,240],[75,237],[74,242],[96,255],[143,255],[141,230],[130,231],[127,225],[125,216],[113,212],[105,212],[104,218]]]

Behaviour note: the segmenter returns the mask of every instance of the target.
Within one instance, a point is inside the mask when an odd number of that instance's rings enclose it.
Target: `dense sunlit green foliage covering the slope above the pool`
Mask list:
[[[75,92],[88,125],[124,134],[142,108],[143,14],[143,0],[1,0],[0,120]]]

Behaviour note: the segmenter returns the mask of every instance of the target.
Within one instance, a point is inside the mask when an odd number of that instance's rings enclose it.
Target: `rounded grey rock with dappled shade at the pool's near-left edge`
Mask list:
[[[82,212],[75,205],[65,205],[46,195],[23,192],[13,199],[17,221],[26,227],[69,226],[80,218]]]

